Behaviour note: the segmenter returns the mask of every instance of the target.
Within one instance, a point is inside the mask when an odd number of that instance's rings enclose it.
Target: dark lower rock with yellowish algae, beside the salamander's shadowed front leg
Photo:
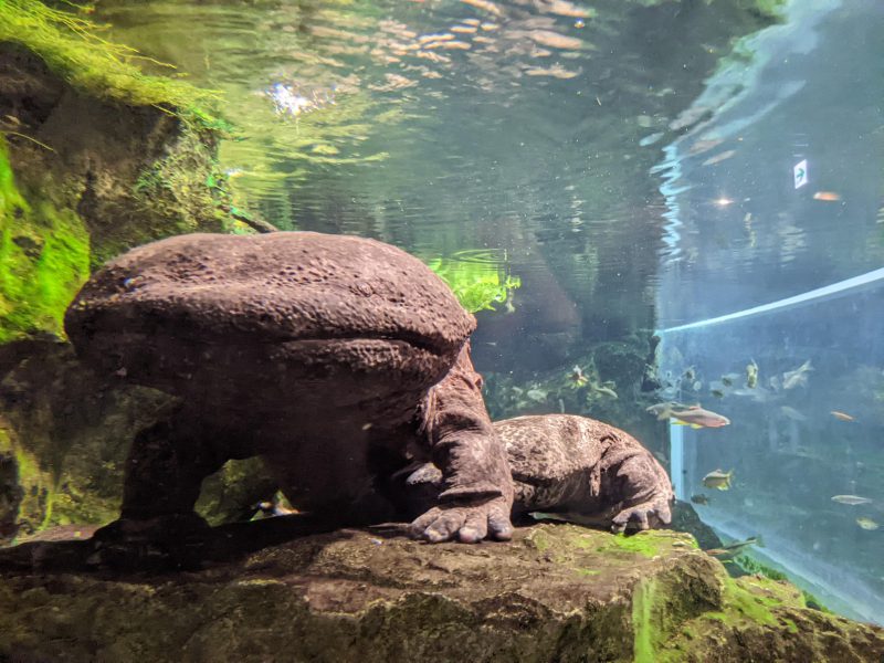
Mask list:
[[[171,402],[159,391],[101,379],[66,343],[0,346],[0,457],[9,455],[18,471],[19,534],[113,519],[131,431]]]

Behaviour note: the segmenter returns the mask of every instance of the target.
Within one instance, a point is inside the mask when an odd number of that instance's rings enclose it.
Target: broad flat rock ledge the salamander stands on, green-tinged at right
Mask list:
[[[884,630],[732,580],[690,535],[340,530],[198,572],[0,578],[0,660],[880,661]]]

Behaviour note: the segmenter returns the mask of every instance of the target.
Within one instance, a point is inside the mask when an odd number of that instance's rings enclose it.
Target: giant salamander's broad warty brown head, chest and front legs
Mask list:
[[[119,256],[65,329],[96,369],[181,406],[137,435],[105,535],[198,525],[202,478],[261,455],[297,508],[340,524],[413,511],[391,477],[432,460],[446,490],[415,535],[508,538],[513,487],[470,360],[474,327],[420,261],[372,240],[193,234]]]

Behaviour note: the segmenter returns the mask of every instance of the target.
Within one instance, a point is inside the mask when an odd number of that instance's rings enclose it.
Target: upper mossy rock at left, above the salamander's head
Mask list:
[[[73,11],[0,3],[0,343],[63,337],[90,269],[126,249],[233,227],[212,93],[136,62]]]

